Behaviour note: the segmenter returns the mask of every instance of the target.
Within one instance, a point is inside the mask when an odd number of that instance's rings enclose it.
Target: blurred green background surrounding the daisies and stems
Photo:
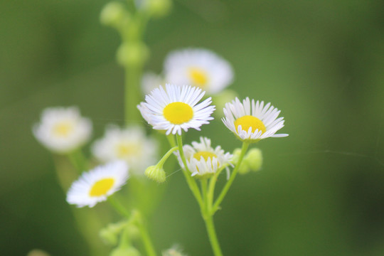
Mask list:
[[[94,138],[124,123],[119,36],[99,23],[106,3],[0,1],[1,255],[88,255],[31,125],[60,105],[91,117]],[[238,176],[215,215],[225,255],[384,255],[383,10],[380,0],[179,0],[149,23],[147,70],[160,72],[170,50],[214,50],[235,69],[231,89],[286,119],[289,137],[257,144],[262,171]],[[201,134],[240,146],[220,119],[186,141]],[[181,173],[150,224],[159,250],[211,255]]]

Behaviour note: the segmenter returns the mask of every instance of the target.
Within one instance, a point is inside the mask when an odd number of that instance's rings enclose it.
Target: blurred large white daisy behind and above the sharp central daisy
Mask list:
[[[233,69],[228,61],[205,49],[176,50],[166,57],[164,75],[175,85],[201,87],[214,95],[233,81]]]

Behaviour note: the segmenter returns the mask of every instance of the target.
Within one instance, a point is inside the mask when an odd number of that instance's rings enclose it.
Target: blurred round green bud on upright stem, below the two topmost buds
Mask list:
[[[120,65],[141,65],[149,56],[144,43],[122,43],[117,49],[117,62]]]

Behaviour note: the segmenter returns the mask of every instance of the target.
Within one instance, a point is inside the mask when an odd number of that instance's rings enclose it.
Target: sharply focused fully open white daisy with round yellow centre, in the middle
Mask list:
[[[201,125],[213,119],[210,114],[215,110],[210,97],[197,104],[204,94],[198,87],[166,85],[164,90],[160,86],[137,107],[154,129],[165,130],[167,135],[181,134],[181,129],[186,132],[189,128],[200,131]]]

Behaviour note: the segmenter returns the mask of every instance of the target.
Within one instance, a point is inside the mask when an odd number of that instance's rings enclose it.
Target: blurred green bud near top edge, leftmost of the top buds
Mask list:
[[[100,22],[105,26],[118,28],[122,21],[129,17],[122,3],[112,1],[104,6],[100,14]]]

